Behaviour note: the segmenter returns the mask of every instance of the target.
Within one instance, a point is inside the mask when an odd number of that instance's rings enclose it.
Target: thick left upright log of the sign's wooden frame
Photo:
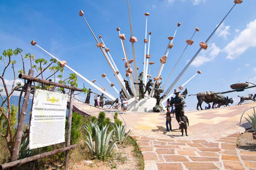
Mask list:
[[[32,77],[34,75],[34,70],[30,69],[28,71],[28,75]],[[18,160],[18,158],[19,158],[20,143],[21,143],[22,132],[23,132],[25,118],[26,118],[26,112],[27,112],[27,107],[28,107],[28,99],[29,99],[29,94],[30,94],[30,89],[31,89],[31,83],[32,83],[32,81],[28,80],[27,84],[26,84],[26,91],[25,91],[25,95],[24,95],[22,108],[21,108],[20,120],[18,122],[16,140],[15,140],[15,143],[14,143],[14,148],[13,148],[13,153],[12,153],[12,161]]]

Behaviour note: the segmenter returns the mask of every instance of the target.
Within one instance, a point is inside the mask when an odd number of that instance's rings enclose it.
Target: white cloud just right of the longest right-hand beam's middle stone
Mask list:
[[[196,59],[191,63],[194,67],[199,67],[206,62],[214,60],[214,58],[219,55],[220,48],[215,45],[215,43],[209,44],[206,51],[202,52],[202,55],[197,56]]]

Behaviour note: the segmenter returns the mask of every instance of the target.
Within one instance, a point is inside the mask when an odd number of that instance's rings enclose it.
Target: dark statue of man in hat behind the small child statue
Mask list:
[[[175,97],[170,101],[169,107],[171,107],[173,104],[175,105],[175,118],[179,123],[181,113],[184,113],[185,99],[180,95],[180,91],[178,89],[174,90],[174,94]]]

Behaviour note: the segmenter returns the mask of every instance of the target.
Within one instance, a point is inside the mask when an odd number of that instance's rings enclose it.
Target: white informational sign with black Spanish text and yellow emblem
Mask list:
[[[36,89],[30,124],[29,149],[65,142],[68,95]]]

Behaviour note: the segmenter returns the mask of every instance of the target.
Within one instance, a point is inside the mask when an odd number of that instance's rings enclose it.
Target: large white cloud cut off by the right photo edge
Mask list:
[[[256,19],[247,24],[246,29],[228,43],[223,51],[227,53],[227,59],[233,60],[250,47],[256,47]]]

